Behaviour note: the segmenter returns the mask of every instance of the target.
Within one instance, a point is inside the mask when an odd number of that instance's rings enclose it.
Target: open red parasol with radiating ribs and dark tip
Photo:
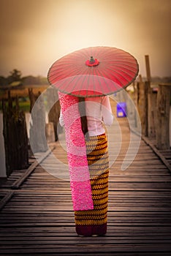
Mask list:
[[[99,46],[76,50],[58,59],[50,67],[47,78],[65,94],[97,97],[126,88],[137,73],[137,60],[131,54]]]

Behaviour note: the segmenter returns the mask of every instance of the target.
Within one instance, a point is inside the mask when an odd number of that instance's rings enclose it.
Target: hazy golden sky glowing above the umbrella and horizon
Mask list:
[[[0,0],[0,75],[47,76],[74,50],[110,46],[131,53],[145,76],[171,76],[171,0]]]

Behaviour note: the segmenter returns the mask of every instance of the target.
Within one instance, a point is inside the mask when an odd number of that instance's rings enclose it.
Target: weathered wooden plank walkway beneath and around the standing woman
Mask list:
[[[121,170],[129,147],[129,126],[126,118],[118,121],[123,138],[119,155],[110,167],[107,235],[77,236],[69,181],[37,165],[18,189],[12,189],[12,184],[24,170],[14,171],[1,186],[1,199],[6,198],[7,203],[0,214],[0,255],[170,255],[170,171],[144,140],[132,165]],[[117,138],[114,128],[110,129]],[[117,146],[113,141],[113,151]],[[59,143],[53,154],[66,161]],[[170,152],[167,154],[169,157]],[[58,170],[52,154],[44,163],[52,171]]]

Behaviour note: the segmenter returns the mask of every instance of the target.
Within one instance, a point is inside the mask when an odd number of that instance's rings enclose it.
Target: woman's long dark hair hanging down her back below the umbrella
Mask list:
[[[86,138],[88,138],[86,104],[85,104],[85,98],[83,97],[79,97],[78,110],[80,112],[81,128],[82,128],[83,134],[86,136]]]

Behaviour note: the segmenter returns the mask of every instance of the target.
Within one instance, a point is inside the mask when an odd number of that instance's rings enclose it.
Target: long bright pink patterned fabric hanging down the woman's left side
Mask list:
[[[81,129],[78,98],[58,92],[64,116],[67,158],[74,211],[92,210],[91,182],[86,157],[86,143]]]

